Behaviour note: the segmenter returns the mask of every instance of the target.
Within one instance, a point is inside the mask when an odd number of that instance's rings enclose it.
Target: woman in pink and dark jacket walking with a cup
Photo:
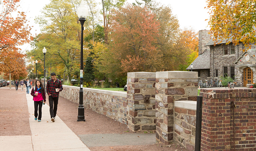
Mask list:
[[[41,122],[42,106],[43,106],[43,101],[44,101],[44,104],[46,102],[46,97],[45,97],[45,91],[44,91],[44,86],[42,85],[42,82],[40,80],[37,80],[35,81],[35,83],[36,83],[35,87],[33,87],[30,94],[33,96],[33,100],[34,100],[35,120],[37,120],[37,116],[38,116],[38,122]],[[39,114],[37,114],[37,110],[39,111]]]

